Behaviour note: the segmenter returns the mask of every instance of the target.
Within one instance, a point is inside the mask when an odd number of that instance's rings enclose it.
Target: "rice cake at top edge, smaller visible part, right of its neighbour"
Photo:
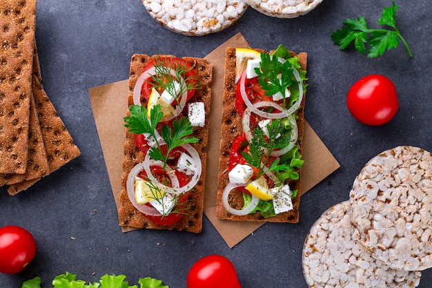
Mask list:
[[[295,18],[311,12],[323,0],[244,0],[265,15],[277,18]]]

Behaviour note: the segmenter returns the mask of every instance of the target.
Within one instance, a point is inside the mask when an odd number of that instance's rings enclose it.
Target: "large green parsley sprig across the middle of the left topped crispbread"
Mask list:
[[[129,107],[130,115],[124,117],[125,126],[129,128],[130,133],[150,134],[157,140],[156,126],[161,121],[164,113],[161,112],[161,105],[157,104],[150,110],[150,119],[147,117],[147,109],[143,105],[132,105]],[[149,155],[153,160],[164,162],[164,169],[168,162],[168,155],[174,148],[188,143],[199,141],[197,137],[190,136],[193,127],[190,125],[188,118],[181,117],[173,121],[173,128],[164,124],[161,128],[161,137],[166,144],[166,150],[161,148],[161,144],[156,141],[157,145],[150,148]]]

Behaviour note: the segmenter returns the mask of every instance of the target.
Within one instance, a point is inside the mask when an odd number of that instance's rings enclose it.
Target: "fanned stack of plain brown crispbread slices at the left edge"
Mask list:
[[[0,186],[15,195],[80,152],[41,85],[36,0],[0,2]]]

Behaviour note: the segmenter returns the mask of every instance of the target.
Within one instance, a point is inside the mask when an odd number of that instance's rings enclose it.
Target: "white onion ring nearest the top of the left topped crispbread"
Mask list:
[[[143,73],[141,73],[141,75],[139,75],[137,79],[137,83],[135,83],[135,87],[133,88],[133,104],[141,105],[141,88],[148,77],[155,76],[155,75],[156,75],[155,66],[148,68]],[[170,119],[177,117],[181,113],[181,111],[183,111],[183,108],[186,105],[186,101],[188,98],[188,91],[186,89],[185,86],[186,84],[183,77],[181,77],[180,75],[176,75],[175,70],[173,68],[170,68],[170,75],[179,78],[180,83],[182,84],[181,91],[184,91],[184,93],[181,95],[179,104],[175,106],[175,113],[173,113],[173,115],[162,117],[161,121],[163,122],[169,121]]]

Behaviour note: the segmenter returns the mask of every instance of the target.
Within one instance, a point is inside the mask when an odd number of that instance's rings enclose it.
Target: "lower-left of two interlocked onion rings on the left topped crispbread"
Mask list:
[[[159,166],[163,167],[163,163],[158,163],[157,161],[152,161],[151,166]],[[169,168],[169,167],[168,167]],[[128,197],[132,205],[138,209],[141,213],[144,213],[146,215],[150,216],[161,216],[162,214],[159,213],[154,207],[148,206],[146,204],[138,204],[137,200],[135,200],[135,177],[141,173],[141,171],[144,170],[144,162],[140,162],[137,165],[135,165],[128,174],[128,179],[126,180],[126,191],[128,191]],[[166,170],[168,173],[168,177],[170,178],[170,182],[173,186],[178,187],[179,186],[179,180],[177,179],[177,175],[175,173],[170,173],[172,169]]]

